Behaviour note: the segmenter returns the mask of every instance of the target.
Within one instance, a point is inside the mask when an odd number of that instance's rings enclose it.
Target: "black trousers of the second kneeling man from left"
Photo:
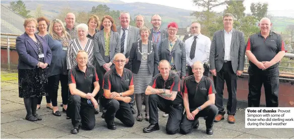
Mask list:
[[[113,120],[116,117],[128,127],[132,127],[135,124],[135,118],[129,103],[103,97],[102,105],[107,109],[105,121]]]

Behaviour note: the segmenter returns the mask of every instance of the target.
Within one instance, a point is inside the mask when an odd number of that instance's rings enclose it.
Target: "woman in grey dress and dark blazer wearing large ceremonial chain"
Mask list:
[[[145,97],[145,115],[149,121],[149,104],[145,90],[152,81],[152,77],[158,73],[158,50],[156,44],[148,40],[150,30],[143,26],[140,28],[141,39],[133,43],[130,51],[130,70],[134,73],[135,99],[138,110],[137,121],[142,121],[142,96]]]

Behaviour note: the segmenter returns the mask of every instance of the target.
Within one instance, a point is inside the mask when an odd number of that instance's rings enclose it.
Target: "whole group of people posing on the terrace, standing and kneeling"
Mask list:
[[[130,19],[130,13],[121,12],[117,28],[108,15],[101,22],[91,15],[87,24],[78,26],[73,13],[67,14],[65,26],[59,19],[51,23],[45,17],[26,19],[25,33],[16,40],[25,118],[42,120],[36,110],[44,95],[46,107],[61,116],[57,106],[61,82],[62,107],[72,120],[71,133],[78,133],[80,127],[93,129],[99,111],[107,128],[116,129],[115,117],[131,127],[134,103],[136,120],[142,121],[144,101],[150,125],[143,132],[159,129],[159,108],[168,116],[168,134],[191,132],[199,127],[199,117],[205,117],[206,133],[213,134],[214,121],[224,119],[224,81],[227,121],[236,121],[237,77],[244,71],[245,54],[250,60],[249,107],[259,106],[263,83],[266,105],[278,106],[278,62],[285,53],[284,42],[270,31],[268,18],[261,19],[260,33],[250,36],[247,46],[244,33],[233,29],[229,13],[223,16],[224,29],[215,32],[212,41],[201,34],[198,22],[191,24],[191,35],[182,41],[177,38],[177,23],[162,29],[159,15],[151,17],[151,29],[144,26],[142,15],[135,18],[137,27],[130,25]]]

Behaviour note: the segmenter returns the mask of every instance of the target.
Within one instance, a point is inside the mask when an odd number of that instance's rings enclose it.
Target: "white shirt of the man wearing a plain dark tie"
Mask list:
[[[209,61],[210,45],[211,41],[207,36],[199,34],[197,36],[197,43],[195,49],[195,57],[190,58],[190,51],[194,41],[194,36],[188,38],[185,41],[186,46],[186,61],[189,66],[192,66],[194,62],[201,61],[203,64]]]

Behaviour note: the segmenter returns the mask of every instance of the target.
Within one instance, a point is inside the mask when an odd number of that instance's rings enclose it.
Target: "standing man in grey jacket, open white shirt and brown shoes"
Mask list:
[[[222,102],[224,81],[228,92],[227,121],[236,121],[234,114],[237,110],[237,76],[244,70],[245,40],[244,33],[233,29],[232,25],[233,15],[224,14],[224,30],[214,33],[210,47],[210,72],[216,89],[215,105],[218,107],[218,114],[214,119],[216,122],[224,119],[225,114]]]

